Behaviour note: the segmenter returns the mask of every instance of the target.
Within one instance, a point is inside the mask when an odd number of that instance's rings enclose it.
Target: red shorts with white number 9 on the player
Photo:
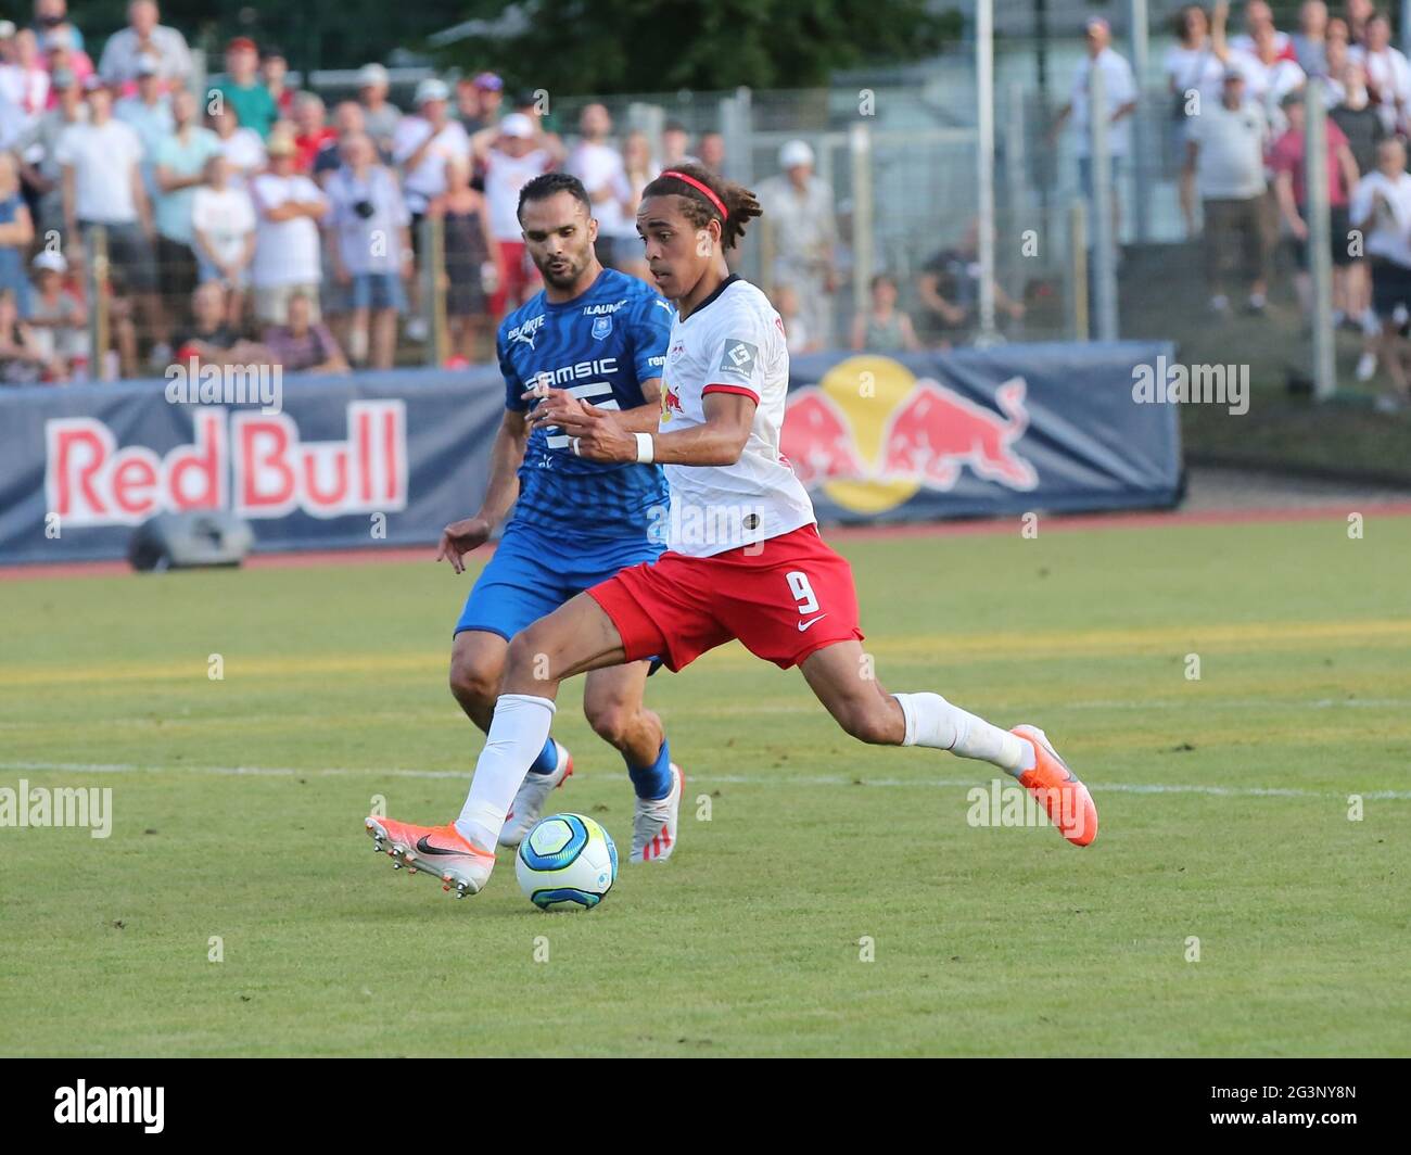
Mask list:
[[[739,640],[783,669],[825,645],[862,640],[852,566],[814,525],[713,558],[667,551],[588,590],[612,618],[626,661],[683,669]]]

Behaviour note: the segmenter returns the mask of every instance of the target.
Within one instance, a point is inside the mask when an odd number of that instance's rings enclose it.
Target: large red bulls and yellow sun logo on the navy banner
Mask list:
[[[1016,442],[1029,428],[1027,385],[995,391],[998,412],[890,357],[849,357],[789,395],[780,452],[809,489],[859,513],[900,505],[919,489],[951,490],[968,467],[1013,490],[1038,484]]]

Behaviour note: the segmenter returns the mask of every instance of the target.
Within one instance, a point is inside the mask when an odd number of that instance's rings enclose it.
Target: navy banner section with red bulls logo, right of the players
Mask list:
[[[1171,346],[797,357],[780,450],[823,521],[1168,507],[1177,407],[1133,395],[1158,356]]]

